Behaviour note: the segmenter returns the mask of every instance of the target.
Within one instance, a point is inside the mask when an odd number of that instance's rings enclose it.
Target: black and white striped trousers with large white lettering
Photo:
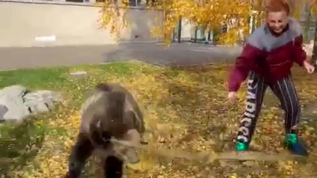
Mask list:
[[[263,77],[251,72],[248,80],[246,110],[240,123],[237,141],[250,143],[267,87],[270,87],[277,96],[285,111],[285,132],[297,134],[301,107],[291,75],[275,83],[267,83]]]

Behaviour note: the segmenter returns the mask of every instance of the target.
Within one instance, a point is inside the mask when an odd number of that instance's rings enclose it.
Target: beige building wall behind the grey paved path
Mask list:
[[[98,29],[99,10],[85,5],[0,1],[0,47],[116,44],[108,30]],[[122,32],[120,42],[157,41],[150,29],[162,15],[161,11],[129,9],[131,28]]]

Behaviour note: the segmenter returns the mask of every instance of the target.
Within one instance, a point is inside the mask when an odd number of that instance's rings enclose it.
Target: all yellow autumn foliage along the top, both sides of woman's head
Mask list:
[[[309,19],[316,11],[316,0],[286,1],[291,6],[292,16],[297,19],[301,18],[305,6],[309,9]],[[170,43],[180,19],[185,19],[194,28],[203,28],[205,31],[220,31],[221,25],[227,24],[227,33],[220,36],[219,42],[234,44],[239,36],[247,36],[260,26],[264,20],[265,4],[266,0],[146,0],[146,8],[164,12],[162,21],[151,28],[151,34],[164,39],[167,44]],[[120,31],[128,28],[129,7],[130,0],[105,0],[100,11],[101,26],[108,28],[112,35],[119,38]],[[255,25],[250,26],[250,16],[252,24],[255,22]],[[308,25],[306,30],[309,29]]]

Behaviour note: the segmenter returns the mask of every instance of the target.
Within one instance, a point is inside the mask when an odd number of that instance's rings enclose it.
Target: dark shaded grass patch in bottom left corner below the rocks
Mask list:
[[[11,171],[31,161],[42,147],[46,132],[47,127],[36,124],[32,117],[20,125],[4,123],[0,126],[0,173],[11,178]]]

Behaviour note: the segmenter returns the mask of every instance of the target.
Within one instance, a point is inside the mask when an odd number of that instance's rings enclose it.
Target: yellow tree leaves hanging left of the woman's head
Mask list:
[[[105,0],[101,10],[101,26],[110,29],[110,33],[119,37],[120,29],[127,28],[126,9],[129,0],[122,0],[121,4],[114,0]],[[168,44],[171,41],[174,28],[180,17],[188,20],[195,27],[205,27],[207,31],[219,29],[222,23],[230,24],[232,19],[238,25],[220,38],[222,42],[232,43],[237,41],[238,30],[248,33],[247,18],[252,11],[250,0],[148,0],[147,8],[161,9],[164,11],[163,21],[152,27],[152,35],[161,37]],[[242,23],[241,23],[242,22]]]

